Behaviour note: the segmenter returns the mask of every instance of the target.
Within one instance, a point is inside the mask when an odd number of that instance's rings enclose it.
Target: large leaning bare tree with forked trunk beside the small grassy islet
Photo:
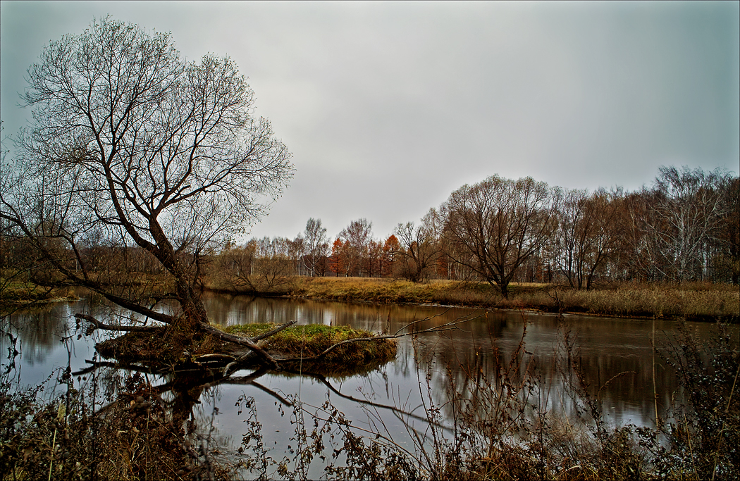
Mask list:
[[[186,62],[167,34],[106,18],[52,42],[27,80],[22,99],[34,120],[4,169],[12,187],[0,194],[0,216],[48,255],[64,283],[181,332],[211,332],[182,254],[197,257],[244,232],[293,172],[269,122],[253,115],[246,78],[229,58]],[[158,260],[181,315],[98,282],[79,249],[89,232]]]

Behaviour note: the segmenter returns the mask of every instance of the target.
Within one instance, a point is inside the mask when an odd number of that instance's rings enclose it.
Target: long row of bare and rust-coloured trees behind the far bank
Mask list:
[[[636,192],[494,175],[385,238],[360,218],[332,241],[311,218],[294,239],[226,246],[218,268],[245,285],[259,276],[270,285],[295,275],[437,278],[485,281],[504,296],[511,282],[737,284],[739,189],[739,178],[722,169],[675,166],[660,167],[652,186]]]

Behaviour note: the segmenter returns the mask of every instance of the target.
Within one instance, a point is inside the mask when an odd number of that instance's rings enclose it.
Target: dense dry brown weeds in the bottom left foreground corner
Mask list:
[[[139,374],[128,376],[103,409],[93,388],[77,390],[70,377],[67,382],[67,394],[46,402],[40,393],[52,386],[20,391],[0,383],[0,480],[201,480],[229,474],[202,465],[189,448],[197,440],[186,423],[173,419]]]

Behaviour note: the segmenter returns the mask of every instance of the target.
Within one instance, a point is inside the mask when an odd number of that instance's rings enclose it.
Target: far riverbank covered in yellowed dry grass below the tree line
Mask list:
[[[256,294],[206,284],[215,292]],[[616,317],[657,317],[736,323],[740,288],[727,284],[623,283],[576,290],[548,283],[512,283],[505,299],[487,283],[366,277],[295,277],[262,295],[371,303],[421,303],[485,309],[525,309]]]

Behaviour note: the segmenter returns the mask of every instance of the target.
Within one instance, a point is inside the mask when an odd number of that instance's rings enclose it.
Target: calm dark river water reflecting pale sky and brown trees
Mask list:
[[[511,354],[522,341],[525,325],[522,347],[531,355],[525,354],[524,362],[511,368],[515,371],[512,376],[522,378],[529,374],[539,379],[536,402],[556,415],[575,415],[568,390],[573,374],[568,371],[564,377],[562,372],[562,366],[568,366],[565,334],[577,346],[577,351],[571,351],[571,363],[577,361],[582,367],[591,384],[589,390],[603,401],[605,416],[611,423],[652,426],[656,409],[653,387],[661,414],[672,398],[681,395],[673,371],[660,355],[653,355],[650,343],[654,329],[656,345],[665,346],[675,334],[675,322],[568,315],[559,320],[551,314],[225,295],[206,295],[204,301],[212,321],[222,325],[296,320],[300,324],[346,325],[374,332],[420,332],[459,321],[445,332],[401,338],[396,360],[369,374],[326,382],[294,374],[266,374],[257,384],[222,383],[206,389],[194,414],[201,423],[213,419],[212,434],[226,453],[238,448],[246,431],[246,414],[238,414],[235,407],[240,397],[254,397],[263,435],[277,459],[292,443],[290,411],[285,406],[285,414],[280,410],[280,399],[286,397],[300,398],[309,409],[329,400],[353,425],[385,430],[400,445],[411,443],[408,425],[423,429],[424,406],[442,406],[443,416],[449,415],[444,406],[451,390],[474,398],[481,395],[480,386],[485,385],[486,379],[509,369]],[[14,314],[3,321],[3,329],[19,337],[21,354],[13,370],[17,383],[41,383],[54,369],[68,364],[73,371],[87,366],[85,360],[92,359],[94,343],[104,334],[78,339],[73,320],[77,312],[104,318],[120,314],[102,303],[81,300],[58,303],[43,312]],[[700,337],[707,337],[716,329],[709,323],[689,323],[688,327]],[[737,326],[733,326],[733,336],[737,339]],[[8,337],[3,334],[3,354],[8,346]],[[7,365],[7,360],[3,362]],[[106,375],[110,379],[119,374]],[[249,372],[235,375],[246,374]],[[149,380],[155,384],[165,381],[154,375],[149,375]],[[215,417],[214,407],[218,407]]]

